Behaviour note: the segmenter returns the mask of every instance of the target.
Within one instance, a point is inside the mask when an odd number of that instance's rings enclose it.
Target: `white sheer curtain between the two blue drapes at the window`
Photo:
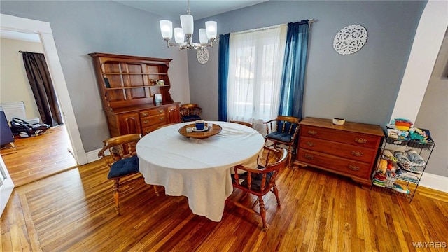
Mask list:
[[[252,122],[275,118],[288,25],[230,34],[228,120]]]

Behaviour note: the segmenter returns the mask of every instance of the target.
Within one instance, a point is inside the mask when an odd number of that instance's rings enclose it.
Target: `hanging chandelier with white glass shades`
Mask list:
[[[169,20],[160,20],[160,32],[167,46],[179,46],[179,50],[183,49],[204,49],[207,46],[213,47],[213,42],[216,40],[216,21],[205,22],[205,29],[199,29],[200,43],[193,43],[193,15],[190,12],[190,0],[188,0],[188,10],[186,15],[181,15],[182,28],[174,28],[174,41],[170,43],[173,38],[173,23]]]

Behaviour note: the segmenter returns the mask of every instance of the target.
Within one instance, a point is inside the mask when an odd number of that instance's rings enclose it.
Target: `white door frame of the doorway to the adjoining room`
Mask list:
[[[50,76],[54,83],[57,99],[62,111],[62,118],[64,118],[66,130],[69,134],[73,156],[79,165],[87,164],[87,155],[83,142],[81,141],[73,106],[71,106],[69,90],[67,89],[61,62],[57,55],[55,39],[53,38],[50,23],[1,13],[0,20],[0,29],[38,34],[40,36],[48,70],[50,71]]]

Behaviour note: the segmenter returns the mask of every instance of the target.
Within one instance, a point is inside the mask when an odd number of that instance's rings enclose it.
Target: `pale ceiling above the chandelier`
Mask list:
[[[179,20],[179,16],[187,14],[188,0],[114,0],[133,8],[154,13],[168,20]],[[195,20],[208,18],[231,10],[237,10],[269,0],[190,0],[191,15]]]

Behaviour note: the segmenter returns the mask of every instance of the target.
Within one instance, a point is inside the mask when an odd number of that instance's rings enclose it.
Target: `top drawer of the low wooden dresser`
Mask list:
[[[365,148],[377,148],[381,137],[358,132],[345,132],[323,127],[314,127],[301,125],[300,137],[313,137],[328,141],[337,141],[339,143],[351,144]]]

